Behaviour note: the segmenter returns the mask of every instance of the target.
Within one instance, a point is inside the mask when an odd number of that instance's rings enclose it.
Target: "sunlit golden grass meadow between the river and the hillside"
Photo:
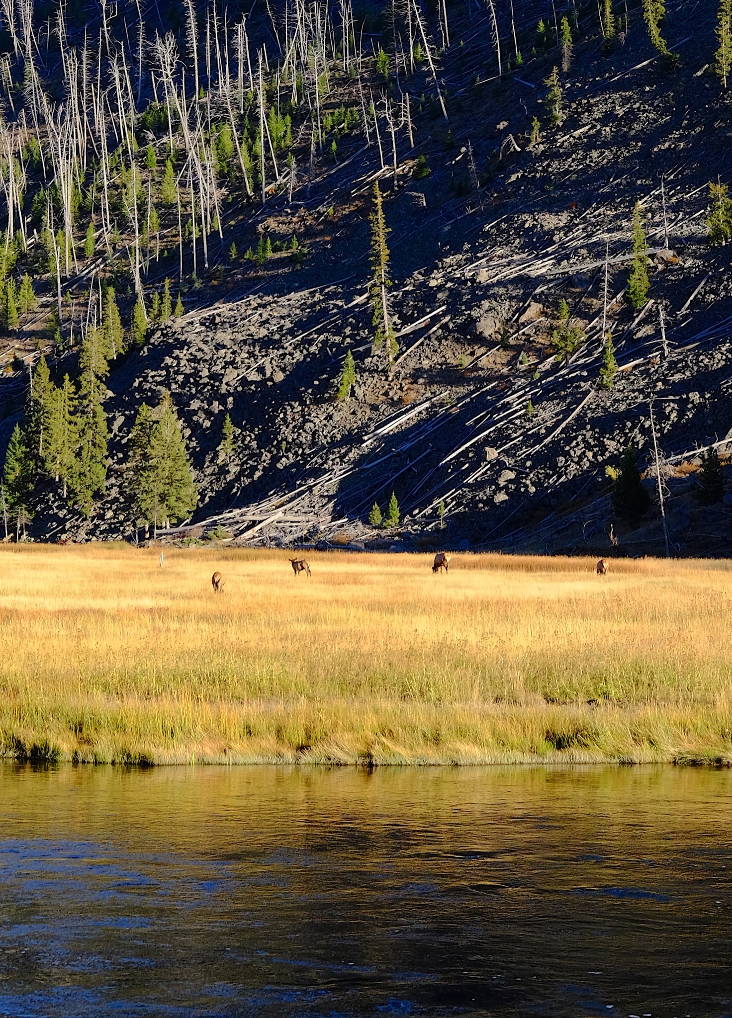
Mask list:
[[[732,563],[159,555],[0,549],[0,755],[732,759]]]

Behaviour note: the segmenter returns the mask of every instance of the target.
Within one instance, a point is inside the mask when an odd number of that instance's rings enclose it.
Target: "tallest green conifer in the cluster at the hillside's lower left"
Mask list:
[[[116,304],[115,304],[116,307]],[[78,443],[69,488],[74,504],[86,516],[92,511],[94,496],[107,479],[107,415],[103,401],[104,383],[109,373],[104,330],[90,328],[81,346],[78,404],[75,417]]]

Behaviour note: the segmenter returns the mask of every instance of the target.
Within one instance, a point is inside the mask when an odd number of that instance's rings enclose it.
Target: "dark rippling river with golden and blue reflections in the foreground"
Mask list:
[[[732,775],[0,765],[0,1015],[732,1015]]]

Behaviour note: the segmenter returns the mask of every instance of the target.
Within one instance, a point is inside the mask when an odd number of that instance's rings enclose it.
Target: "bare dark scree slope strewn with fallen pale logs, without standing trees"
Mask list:
[[[134,536],[125,445],[140,402],[167,389],[201,491],[188,528],[169,539],[223,527],[240,543],[663,554],[655,476],[654,506],[635,531],[614,520],[606,476],[629,441],[652,466],[653,406],[670,549],[725,554],[730,508],[702,510],[693,498],[697,451],[721,443],[724,458],[732,428],[729,248],[712,247],[706,226],[707,184],[729,178],[732,136],[728,93],[707,66],[715,16],[708,0],[669,8],[675,70],[656,56],[638,8],[610,54],[587,27],[565,77],[563,120],[534,145],[530,123],[544,119],[543,78],[557,52],[480,83],[486,42],[465,21],[463,44],[444,58],[449,123],[426,104],[414,150],[399,147],[396,186],[377,146],[353,138],[292,205],[273,199],[252,229],[296,232],[308,249],[302,267],[283,256],[262,271],[232,269],[120,358],[108,381],[104,498],[85,520],[47,483],[34,538]],[[372,350],[367,300],[377,177],[392,231],[391,369]],[[639,316],[624,299],[637,200],[655,252],[652,302]],[[598,387],[606,252],[621,369],[609,392]],[[562,298],[587,335],[569,365],[549,351]],[[357,382],[337,401],[348,349]],[[20,381],[5,376],[5,393]],[[238,433],[225,464],[217,448],[227,411]],[[402,525],[370,527],[371,506],[384,510],[392,491]]]

